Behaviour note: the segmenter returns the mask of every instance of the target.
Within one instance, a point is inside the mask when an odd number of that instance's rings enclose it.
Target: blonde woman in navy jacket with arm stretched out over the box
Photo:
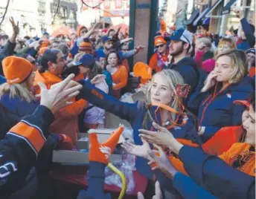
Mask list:
[[[180,103],[182,102],[181,97],[178,97],[173,92],[176,85],[183,84],[182,76],[176,71],[168,69],[159,72],[153,77],[147,90],[147,102],[149,105],[141,102],[121,102],[95,88],[90,82],[83,82],[83,90],[80,91],[80,97],[123,120],[129,121],[133,128],[133,138],[136,145],[142,144],[141,138],[138,137],[138,129],[154,130],[153,121],[169,128],[176,138],[183,138],[200,144],[201,141],[196,133],[193,117],[189,114],[188,116],[185,115],[183,106]],[[159,104],[161,105],[159,106]],[[173,111],[173,109],[176,111]],[[136,168],[144,176],[153,179],[153,172],[147,166],[147,160],[144,158],[137,158]]]

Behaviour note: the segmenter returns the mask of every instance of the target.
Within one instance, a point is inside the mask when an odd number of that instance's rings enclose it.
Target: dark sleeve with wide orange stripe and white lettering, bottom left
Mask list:
[[[9,195],[19,186],[22,175],[28,174],[48,137],[54,115],[39,105],[33,114],[13,126],[0,141],[0,195]]]

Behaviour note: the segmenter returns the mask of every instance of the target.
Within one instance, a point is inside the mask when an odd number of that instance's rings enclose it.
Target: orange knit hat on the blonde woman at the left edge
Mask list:
[[[10,84],[21,83],[31,74],[33,66],[27,59],[7,56],[3,62],[4,76]]]

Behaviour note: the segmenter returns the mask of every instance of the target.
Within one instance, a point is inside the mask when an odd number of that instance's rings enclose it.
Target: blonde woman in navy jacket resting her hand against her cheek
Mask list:
[[[246,74],[241,51],[225,51],[217,56],[214,71],[208,75],[202,90],[191,96],[188,107],[198,111],[203,143],[220,128],[242,123],[243,107],[233,102],[249,99],[253,94],[251,79]]]

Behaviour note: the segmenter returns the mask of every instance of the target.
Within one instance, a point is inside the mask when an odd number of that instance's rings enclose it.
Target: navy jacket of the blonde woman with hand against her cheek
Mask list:
[[[240,125],[244,108],[234,101],[249,99],[254,92],[252,80],[247,76],[222,92],[220,88],[219,84],[207,92],[196,92],[188,101],[189,108],[198,110],[199,125],[205,126],[201,136],[203,143],[224,126]]]

